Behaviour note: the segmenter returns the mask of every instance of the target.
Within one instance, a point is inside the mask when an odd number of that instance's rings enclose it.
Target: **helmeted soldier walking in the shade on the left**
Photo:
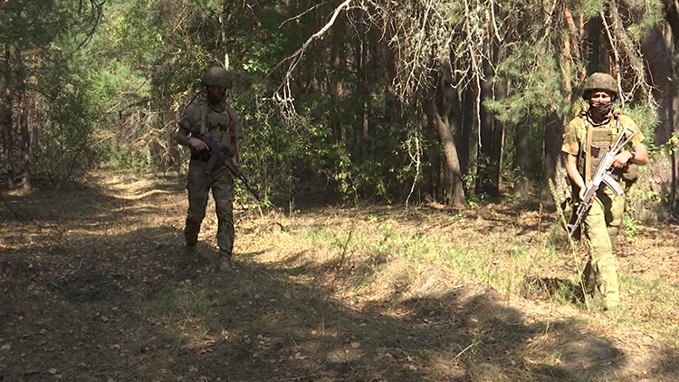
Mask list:
[[[240,140],[244,138],[241,117],[226,101],[226,90],[231,89],[231,75],[221,66],[206,70],[202,79],[206,86],[206,100],[196,101],[186,107],[184,117],[177,124],[177,143],[191,150],[188,165],[186,190],[188,191],[188,213],[184,236],[186,249],[181,263],[188,265],[198,261],[196,246],[200,224],[206,215],[207,198],[210,190],[215,198],[217,215],[217,246],[219,258],[217,269],[229,272],[232,267],[231,256],[234,250],[234,177],[223,164],[206,173],[210,158],[206,143],[195,137],[199,132],[215,140],[222,152],[231,156],[234,163],[240,163]]]

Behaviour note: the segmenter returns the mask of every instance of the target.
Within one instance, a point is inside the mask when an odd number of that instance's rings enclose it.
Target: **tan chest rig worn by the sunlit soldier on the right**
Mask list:
[[[612,120],[616,120],[616,123],[612,124]],[[620,119],[612,120],[601,127],[595,127],[587,117],[583,118],[587,136],[580,150],[580,174],[585,176],[586,183],[592,178],[592,174],[597,170],[599,163],[606,157],[623,131]]]

